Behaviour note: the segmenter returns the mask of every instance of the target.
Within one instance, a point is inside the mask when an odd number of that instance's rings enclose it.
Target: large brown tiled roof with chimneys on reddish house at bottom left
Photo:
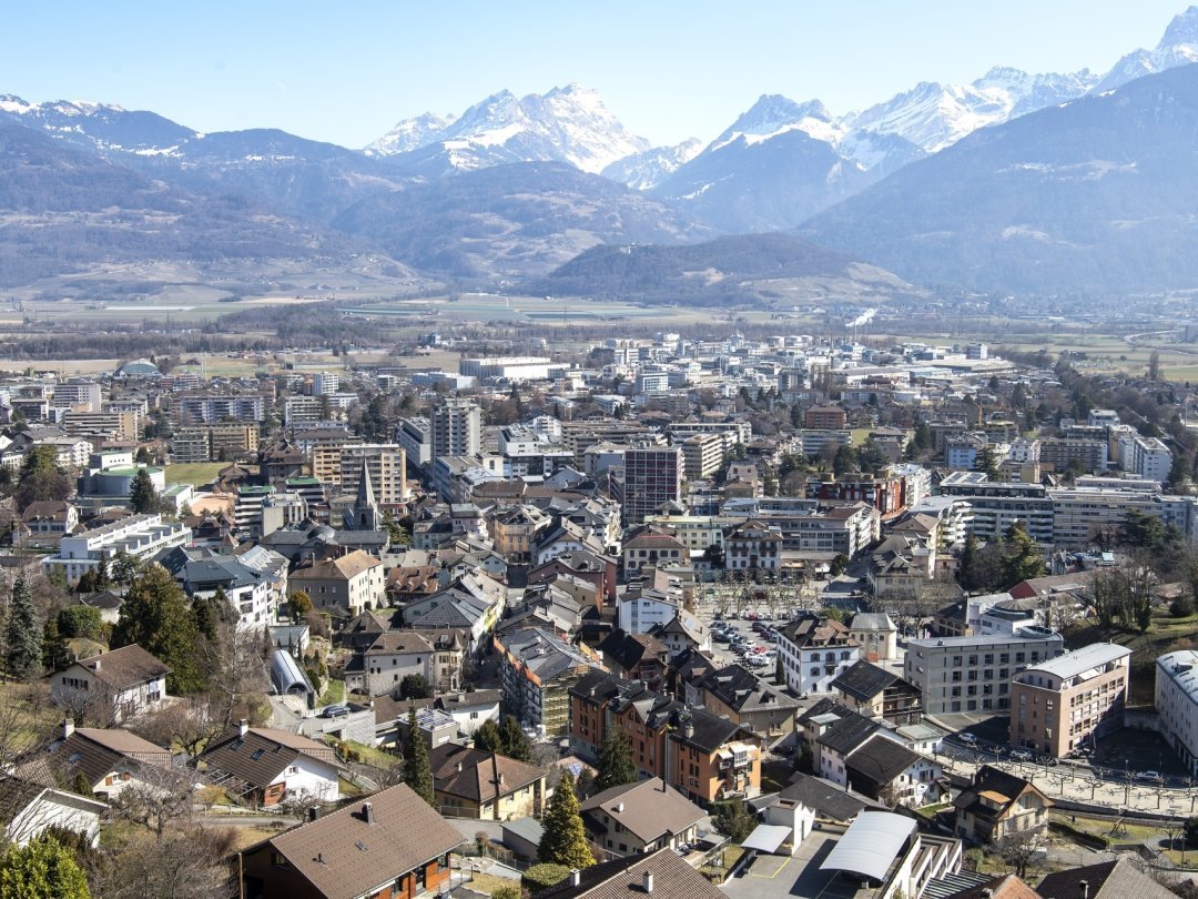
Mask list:
[[[374,823],[367,822],[365,803]],[[465,838],[400,784],[267,843],[321,895],[352,899],[456,849]]]

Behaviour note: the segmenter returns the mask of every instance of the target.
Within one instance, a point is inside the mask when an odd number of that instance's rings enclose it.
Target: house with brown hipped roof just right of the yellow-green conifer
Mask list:
[[[694,843],[707,816],[659,777],[597,792],[581,811],[591,841],[617,858]]]

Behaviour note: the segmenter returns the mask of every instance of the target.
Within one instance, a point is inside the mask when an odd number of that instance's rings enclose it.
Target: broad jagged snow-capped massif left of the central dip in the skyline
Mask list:
[[[440,155],[453,169],[479,169],[509,162],[568,162],[598,174],[627,156],[649,149],[604,105],[599,95],[577,84],[516,98],[500,91],[441,127],[435,116],[399,122],[368,152],[413,155],[426,167]],[[398,158],[397,162],[403,162]]]

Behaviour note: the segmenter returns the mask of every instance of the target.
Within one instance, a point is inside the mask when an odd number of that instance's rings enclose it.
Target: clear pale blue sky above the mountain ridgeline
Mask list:
[[[761,93],[863,108],[994,65],[1108,68],[1162,0],[459,0],[8,4],[0,93],[152,109],[201,131],[363,146],[507,88],[597,89],[654,143],[715,137]]]

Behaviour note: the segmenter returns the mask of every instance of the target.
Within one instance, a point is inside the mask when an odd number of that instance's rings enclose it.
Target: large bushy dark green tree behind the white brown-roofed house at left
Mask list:
[[[134,642],[170,666],[170,693],[195,693],[206,686],[195,617],[183,591],[161,565],[150,566],[133,581],[113,628],[113,648]]]

